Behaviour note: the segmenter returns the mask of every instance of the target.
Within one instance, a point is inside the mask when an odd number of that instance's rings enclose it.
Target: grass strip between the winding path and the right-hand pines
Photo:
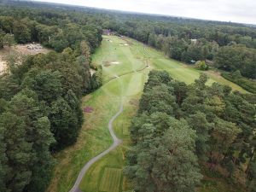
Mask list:
[[[105,168],[112,167],[116,169],[123,169],[125,166],[125,153],[129,148],[130,137],[129,134],[123,133],[123,123],[131,124],[131,119],[136,113],[137,106],[131,104],[131,98],[138,99],[138,96],[127,96],[124,102],[124,112],[113,122],[113,130],[116,135],[123,140],[123,144],[113,150],[111,153],[98,160],[90,167],[85,177],[80,184],[80,189],[84,192],[100,192],[100,186],[104,177]],[[128,128],[128,126],[126,127]],[[129,132],[128,132],[129,133]],[[123,174],[120,178],[120,187],[117,192],[126,191],[130,189],[129,183],[124,178]],[[104,191],[104,190],[103,190]],[[109,191],[110,192],[110,191]],[[112,192],[112,191],[111,191]]]

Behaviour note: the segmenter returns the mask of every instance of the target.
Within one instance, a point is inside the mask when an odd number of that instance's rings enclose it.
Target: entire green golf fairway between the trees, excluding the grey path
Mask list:
[[[129,125],[137,112],[149,71],[166,70],[173,79],[187,84],[193,83],[202,73],[181,62],[167,59],[159,51],[131,38],[116,36],[103,36],[102,45],[93,55],[92,63],[102,66],[103,85],[84,96],[83,108],[92,108],[92,113],[84,113],[84,125],[77,143],[55,155],[57,162],[49,192],[68,192],[84,165],[112,145],[108,123],[119,112],[121,105],[123,111],[113,120],[113,130],[123,143],[90,166],[79,189],[84,192],[129,190],[129,183],[122,172],[130,143]],[[246,92],[216,73],[207,74],[210,77],[208,84],[219,82],[230,85],[233,90]]]

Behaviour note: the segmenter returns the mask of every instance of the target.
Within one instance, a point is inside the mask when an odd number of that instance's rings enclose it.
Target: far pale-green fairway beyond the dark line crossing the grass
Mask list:
[[[120,46],[119,44],[128,44]],[[104,63],[109,63],[110,66],[105,67]],[[119,64],[111,64],[111,62],[119,62]],[[158,70],[166,70],[173,79],[177,79],[191,84],[198,79],[201,71],[189,67],[182,62],[174,61],[166,58],[160,51],[152,49],[144,44],[137,42],[131,38],[118,38],[115,36],[104,36],[102,47],[97,49],[96,54],[93,55],[93,63],[102,65],[103,79],[113,79],[116,76],[137,71],[147,65],[150,68]],[[221,76],[214,73],[207,73],[209,76],[208,84],[218,82],[220,84],[227,84],[233,90],[247,92],[237,84],[234,84]]]

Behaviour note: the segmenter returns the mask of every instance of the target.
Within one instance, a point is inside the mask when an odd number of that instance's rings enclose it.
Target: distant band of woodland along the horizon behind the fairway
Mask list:
[[[65,46],[78,46],[76,42],[79,42],[83,36],[88,39],[90,48],[93,50],[96,46],[92,44],[98,44],[94,37],[98,37],[99,33],[96,30],[100,27],[135,38],[144,44],[162,50],[167,56],[178,61],[187,63],[205,60],[215,61],[215,57],[218,55],[213,67],[219,67],[228,72],[240,70],[243,77],[255,79],[256,29],[253,27],[230,22],[127,14],[65,5],[58,5],[58,8],[55,8],[55,5],[47,3],[9,1],[7,4],[11,11],[0,9],[1,15],[15,17],[21,26],[27,25],[28,28],[31,28],[32,37],[30,39],[39,41],[58,51],[61,51]],[[16,5],[24,6],[22,12]],[[44,10],[39,13],[28,11],[27,6],[32,6],[32,10],[44,8],[51,10],[51,12],[49,14]],[[69,14],[65,15],[64,11],[69,11]],[[34,21],[22,20],[23,15],[26,15],[29,20],[36,20],[40,25],[38,26]],[[72,21],[72,26],[67,25],[68,20]],[[56,30],[55,26],[61,26],[61,30]],[[41,34],[37,34],[38,28]],[[84,32],[85,28],[90,32]],[[19,29],[21,30],[22,27]],[[16,31],[19,32],[19,29]],[[4,32],[9,32],[9,30]],[[97,35],[90,36],[92,32]],[[35,34],[33,35],[33,33]],[[19,39],[18,36],[15,35],[16,41]],[[240,58],[236,55],[237,49],[241,51]],[[237,60],[241,60],[241,64],[236,65],[235,63],[231,69],[220,65],[218,61],[224,61],[226,57],[237,58]]]

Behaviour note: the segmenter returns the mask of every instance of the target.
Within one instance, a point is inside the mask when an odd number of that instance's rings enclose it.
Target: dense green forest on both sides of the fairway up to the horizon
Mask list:
[[[76,142],[83,123],[80,99],[102,85],[90,74],[90,55],[102,29],[135,38],[168,57],[216,67],[256,93],[256,29],[242,24],[137,15],[48,3],[0,1],[0,49],[37,42],[48,54],[9,60],[0,76],[0,191],[43,192],[53,154]],[[210,62],[209,62],[210,61]],[[194,84],[166,72],[149,74],[131,125],[126,176],[136,191],[193,191],[201,167],[221,170],[256,189],[255,96]]]

